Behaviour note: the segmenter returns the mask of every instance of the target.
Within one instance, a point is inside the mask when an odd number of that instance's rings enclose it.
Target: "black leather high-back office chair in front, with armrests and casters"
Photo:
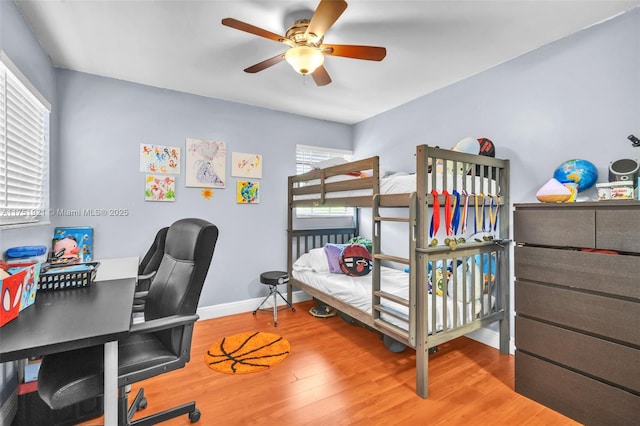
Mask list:
[[[153,425],[188,414],[200,419],[195,402],[131,421],[146,406],[142,389],[128,407],[126,387],[184,367],[191,353],[193,324],[218,228],[202,219],[181,219],[167,232],[165,250],[147,296],[145,322],[133,324],[118,342],[118,424]],[[74,290],[68,290],[74,291]],[[44,357],[38,374],[38,393],[52,409],[60,409],[103,393],[102,346]]]

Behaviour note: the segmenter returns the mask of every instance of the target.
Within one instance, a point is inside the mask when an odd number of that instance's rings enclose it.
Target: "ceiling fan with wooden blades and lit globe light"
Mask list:
[[[325,86],[331,83],[331,77],[323,66],[325,55],[381,61],[387,54],[384,47],[322,43],[327,30],[346,8],[344,0],[321,0],[311,19],[296,21],[284,37],[233,18],[224,18],[222,25],[289,46],[286,52],[245,68],[245,72],[256,73],[286,60],[298,73],[311,74],[318,86]]]

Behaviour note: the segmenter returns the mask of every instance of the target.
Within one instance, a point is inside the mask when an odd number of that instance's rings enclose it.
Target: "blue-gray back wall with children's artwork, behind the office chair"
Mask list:
[[[212,77],[214,78],[214,77]],[[220,238],[200,306],[258,297],[259,275],[286,269],[287,176],[295,145],[351,149],[351,127],[247,105],[57,70],[60,144],[54,209],[128,209],[126,217],[52,218],[55,225],[94,228],[96,258],[142,256],[158,228],[201,217]],[[226,143],[227,182],[213,198],[176,182],[176,201],[144,201],[141,143],[185,147],[185,138]],[[236,203],[231,152],[263,156],[260,203]]]

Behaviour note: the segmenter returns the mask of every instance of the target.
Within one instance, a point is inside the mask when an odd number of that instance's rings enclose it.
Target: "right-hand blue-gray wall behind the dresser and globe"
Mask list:
[[[413,172],[416,145],[487,137],[511,161],[512,203],[537,202],[565,160],[591,161],[607,182],[610,162],[640,159],[630,134],[640,137],[640,8],[356,124],[354,157]],[[404,229],[384,232],[383,251],[407,256]]]

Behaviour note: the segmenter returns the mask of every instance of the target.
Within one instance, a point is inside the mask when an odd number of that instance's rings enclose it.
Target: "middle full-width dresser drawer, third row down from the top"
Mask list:
[[[640,303],[516,280],[518,315],[640,345]]]

